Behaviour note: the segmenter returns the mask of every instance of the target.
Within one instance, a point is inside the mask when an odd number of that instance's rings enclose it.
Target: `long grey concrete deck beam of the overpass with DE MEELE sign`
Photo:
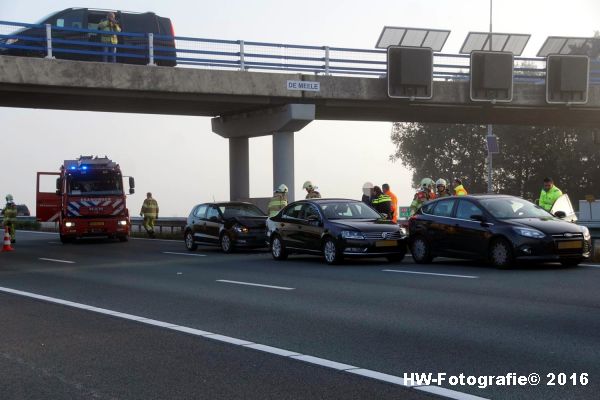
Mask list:
[[[317,80],[320,92],[288,91]],[[468,82],[435,82],[426,101],[389,99],[386,80],[145,67],[0,56],[0,106],[143,114],[228,116],[286,104],[314,104],[321,120],[600,125],[600,86],[587,105],[545,103],[545,86],[516,84],[515,100],[469,100]]]

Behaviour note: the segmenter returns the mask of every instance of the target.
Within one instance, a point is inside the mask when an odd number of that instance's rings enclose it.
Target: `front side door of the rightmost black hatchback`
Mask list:
[[[448,251],[457,256],[474,257],[485,253],[487,240],[491,236],[489,225],[482,224],[480,220],[485,213],[474,202],[460,199],[456,206],[454,230],[450,237]]]

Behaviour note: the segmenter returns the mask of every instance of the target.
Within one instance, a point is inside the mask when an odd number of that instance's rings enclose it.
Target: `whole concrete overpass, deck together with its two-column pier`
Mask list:
[[[325,48],[327,57],[329,50]],[[342,50],[351,49],[338,49]],[[338,60],[346,67],[337,70],[328,58],[323,68],[287,64],[277,68],[244,60],[242,51],[227,54],[236,55],[237,61],[196,63],[200,68],[0,56],[0,106],[213,117],[213,131],[229,139],[232,199],[249,197],[248,139],[264,135],[273,136],[274,184],[287,184],[293,199],[294,132],[315,119],[600,126],[598,71],[593,72],[585,105],[547,104],[544,65],[529,76],[517,72],[512,102],[489,104],[470,100],[468,65],[457,64],[454,68],[459,72],[447,73],[448,65],[438,64],[433,98],[411,101],[388,97],[381,69],[348,67],[349,60]],[[542,63],[542,59],[533,61]],[[381,59],[360,62],[385,64]],[[231,70],[232,65],[241,70]],[[250,72],[249,68],[275,71]],[[299,73],[282,71],[286,69]],[[298,82],[311,82],[319,90],[295,90]]]

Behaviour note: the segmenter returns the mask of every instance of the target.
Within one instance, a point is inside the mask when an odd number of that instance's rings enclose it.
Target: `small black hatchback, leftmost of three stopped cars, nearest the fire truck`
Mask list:
[[[187,219],[185,247],[195,251],[199,244],[220,246],[225,253],[237,247],[266,247],[266,219],[267,215],[251,203],[199,204]]]

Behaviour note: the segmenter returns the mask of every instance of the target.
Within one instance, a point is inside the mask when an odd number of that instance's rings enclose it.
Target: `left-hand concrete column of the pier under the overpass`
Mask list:
[[[250,198],[250,150],[247,137],[229,138],[229,199]]]

